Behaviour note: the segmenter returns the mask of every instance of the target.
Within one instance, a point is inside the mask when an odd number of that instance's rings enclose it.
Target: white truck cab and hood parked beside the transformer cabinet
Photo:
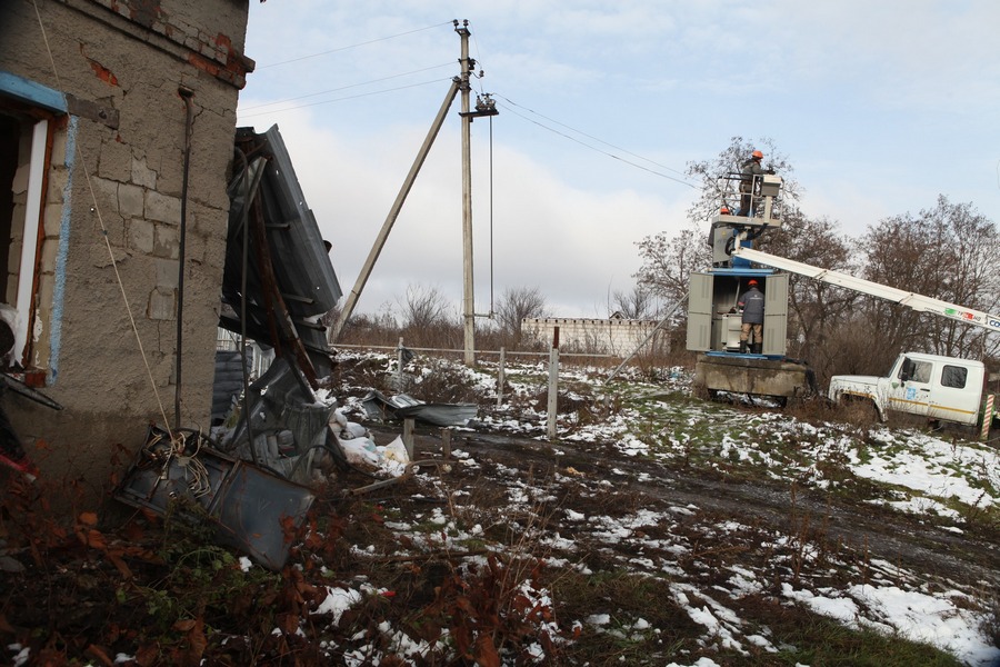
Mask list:
[[[882,420],[894,410],[976,426],[984,379],[982,361],[904,352],[888,377],[833,376],[828,396],[836,402],[846,398],[871,400]]]

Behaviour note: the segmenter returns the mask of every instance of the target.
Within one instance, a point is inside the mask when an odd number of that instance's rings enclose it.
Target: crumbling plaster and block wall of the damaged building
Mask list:
[[[187,119],[180,87],[193,93],[181,424],[209,426],[226,181],[238,93],[252,67],[242,58],[247,10],[247,0],[0,3],[0,70],[93,107],[57,131],[46,192],[36,348],[44,391],[66,409],[4,399],[42,474],[81,480],[90,495],[120,467],[118,445],[134,451],[149,422],[173,425]],[[70,155],[68,145],[76,146]],[[53,308],[60,280],[62,303]]]

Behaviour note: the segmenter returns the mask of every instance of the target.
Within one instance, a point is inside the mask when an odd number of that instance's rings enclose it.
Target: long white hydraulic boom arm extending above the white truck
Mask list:
[[[933,312],[934,315],[963,321],[969,325],[977,325],[984,329],[989,329],[990,331],[1000,331],[1000,316],[990,315],[989,312],[972,310],[971,308],[966,308],[958,303],[949,303],[948,301],[942,301],[932,297],[924,297],[923,295],[908,292],[887,285],[872,282],[871,280],[856,278],[849,273],[821,269],[793,259],[778,257],[777,255],[768,255],[767,252],[761,252],[760,250],[754,250],[752,248],[741,248],[739,243],[736,243],[736,247],[732,249],[732,255],[733,257],[742,257],[743,259],[774,267],[776,269],[783,269],[822,282],[829,282],[830,285],[846,287],[864,295],[879,297],[880,299],[886,299],[893,303],[907,306],[918,312]]]

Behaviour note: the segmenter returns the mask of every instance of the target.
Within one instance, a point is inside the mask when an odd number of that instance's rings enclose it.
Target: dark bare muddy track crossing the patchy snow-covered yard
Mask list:
[[[440,452],[440,438],[418,432],[416,446],[428,452]],[[591,479],[623,481],[619,490],[639,494],[650,505],[692,505],[702,512],[717,515],[720,521],[762,522],[787,535],[794,534],[803,518],[809,517],[813,526],[822,525],[820,539],[839,541],[868,557],[957,581],[1000,586],[997,535],[954,532],[922,522],[918,517],[852,504],[816,489],[672,468],[651,458],[624,456],[610,444],[589,442],[581,447],[572,441],[550,444],[502,432],[457,432],[452,447],[468,451],[477,460],[487,455],[493,462],[509,468],[530,469],[536,478],[554,477],[556,471],[572,467]],[[611,472],[616,468],[628,474],[627,481]]]

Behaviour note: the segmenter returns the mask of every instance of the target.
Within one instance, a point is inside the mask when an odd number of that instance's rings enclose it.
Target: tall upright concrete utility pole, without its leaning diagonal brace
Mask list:
[[[462,315],[466,328],[466,366],[476,365],[476,292],[472,289],[472,151],[471,128],[472,116],[469,110],[469,74],[476,66],[469,59],[469,21],[459,27],[454,21],[454,31],[462,41],[462,72],[459,90],[462,94]]]

